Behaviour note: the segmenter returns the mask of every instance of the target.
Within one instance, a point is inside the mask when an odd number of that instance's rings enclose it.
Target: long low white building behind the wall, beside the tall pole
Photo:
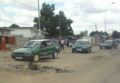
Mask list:
[[[14,30],[11,32],[12,37],[24,37],[24,38],[32,38],[32,37],[38,37],[39,31],[36,28],[33,27],[10,27],[11,30]],[[48,34],[45,31],[40,31],[41,38],[45,38],[45,34]]]

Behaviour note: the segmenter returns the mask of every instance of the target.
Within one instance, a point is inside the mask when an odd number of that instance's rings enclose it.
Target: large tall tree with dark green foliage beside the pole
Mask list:
[[[48,32],[49,36],[59,36],[60,29],[62,36],[73,35],[73,30],[71,24],[73,21],[67,18],[63,11],[59,11],[59,14],[55,14],[55,7],[53,5],[49,5],[43,3],[41,9],[41,17],[40,17],[40,28],[43,31]],[[34,18],[34,22],[36,23],[34,26],[38,28],[38,18]],[[61,27],[61,28],[57,28]]]

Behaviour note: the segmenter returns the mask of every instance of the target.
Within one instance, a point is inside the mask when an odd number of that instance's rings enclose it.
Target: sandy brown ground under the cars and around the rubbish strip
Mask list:
[[[0,68],[27,64],[15,61],[11,52],[0,52]],[[61,51],[58,59],[41,59],[38,64],[73,70],[71,73],[26,74],[22,71],[0,70],[0,83],[120,83],[120,48],[92,53],[71,53],[71,48]]]

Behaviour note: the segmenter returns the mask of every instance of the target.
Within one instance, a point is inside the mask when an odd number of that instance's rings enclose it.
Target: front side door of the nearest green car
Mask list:
[[[48,51],[47,50],[48,50],[48,48],[47,48],[46,41],[41,42],[40,50],[39,50],[40,57],[47,56],[48,55]]]

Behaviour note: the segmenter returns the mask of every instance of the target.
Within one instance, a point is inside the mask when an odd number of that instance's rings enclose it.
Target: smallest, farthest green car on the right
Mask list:
[[[115,48],[117,49],[118,43],[116,43],[115,40],[105,40],[103,43],[100,44],[100,49],[106,48],[106,49],[111,49]]]

